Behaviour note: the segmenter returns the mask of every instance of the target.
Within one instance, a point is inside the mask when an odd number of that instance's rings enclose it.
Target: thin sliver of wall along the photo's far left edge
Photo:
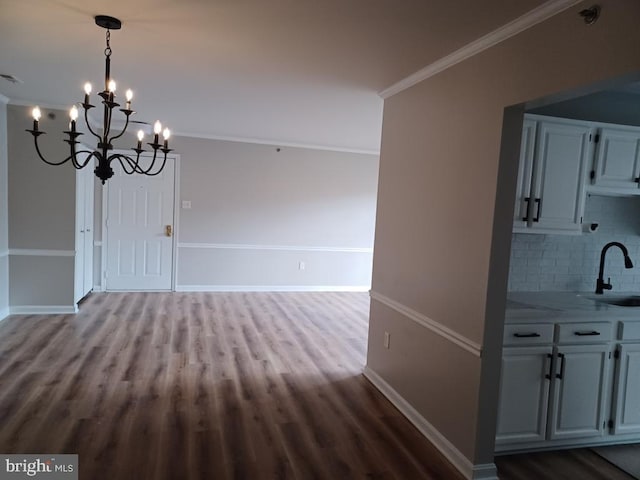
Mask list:
[[[7,104],[0,98],[0,320],[9,314]]]

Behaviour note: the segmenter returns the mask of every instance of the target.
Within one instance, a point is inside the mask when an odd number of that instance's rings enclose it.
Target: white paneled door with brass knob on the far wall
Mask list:
[[[141,162],[150,158],[141,158]],[[171,290],[175,160],[157,176],[112,165],[105,220],[107,290]]]

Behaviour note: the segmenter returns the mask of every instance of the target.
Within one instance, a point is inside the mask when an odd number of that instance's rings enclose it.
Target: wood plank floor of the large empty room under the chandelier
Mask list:
[[[0,452],[80,478],[462,477],[361,375],[353,293],[101,293],[0,323]]]

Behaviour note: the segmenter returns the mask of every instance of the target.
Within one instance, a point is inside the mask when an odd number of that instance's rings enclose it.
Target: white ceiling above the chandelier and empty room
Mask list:
[[[105,31],[138,120],[205,137],[377,151],[378,92],[544,0],[0,0],[0,93],[68,106]],[[96,103],[95,101],[93,103]],[[28,122],[28,119],[25,119]],[[43,129],[46,127],[43,123]]]

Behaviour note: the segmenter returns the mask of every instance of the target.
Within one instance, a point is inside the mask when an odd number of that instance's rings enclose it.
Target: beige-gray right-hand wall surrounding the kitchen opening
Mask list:
[[[367,367],[470,465],[494,452],[522,122],[502,141],[505,108],[640,71],[640,3],[600,5],[596,25],[580,3],[385,100],[372,290],[391,302],[374,297]]]

